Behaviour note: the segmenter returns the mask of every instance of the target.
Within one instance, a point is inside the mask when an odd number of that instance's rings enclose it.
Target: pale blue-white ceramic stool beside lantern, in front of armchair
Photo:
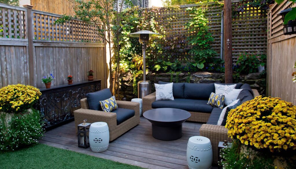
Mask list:
[[[93,152],[106,151],[109,146],[109,128],[105,122],[92,123],[89,128],[89,147]]]

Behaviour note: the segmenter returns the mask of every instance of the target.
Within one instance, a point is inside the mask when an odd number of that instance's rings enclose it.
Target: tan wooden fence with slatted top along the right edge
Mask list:
[[[282,17],[277,14],[284,9],[296,7],[291,1],[274,4],[268,11],[267,47],[267,95],[280,97],[296,104],[296,83],[292,72],[296,61],[296,35],[284,35]]]

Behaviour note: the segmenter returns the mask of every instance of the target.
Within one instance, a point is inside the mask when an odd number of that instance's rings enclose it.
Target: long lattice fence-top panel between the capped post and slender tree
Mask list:
[[[103,43],[103,39],[95,33],[95,25],[87,25],[81,20],[70,20],[62,25],[53,25],[60,17],[60,15],[34,11],[34,38],[45,41]],[[99,25],[102,26],[100,23]]]

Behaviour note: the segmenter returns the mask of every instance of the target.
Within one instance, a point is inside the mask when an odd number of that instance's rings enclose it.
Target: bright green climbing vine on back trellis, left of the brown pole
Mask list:
[[[187,8],[186,11],[189,12],[189,16],[193,17],[190,22],[185,25],[185,28],[191,32],[196,32],[196,34],[189,36],[188,43],[192,45],[192,49],[189,50],[189,54],[194,57],[195,63],[192,64],[199,69],[205,66],[205,62],[208,58],[214,56],[215,50],[210,46],[210,42],[214,41],[212,34],[209,32],[209,22],[205,17],[204,8]]]

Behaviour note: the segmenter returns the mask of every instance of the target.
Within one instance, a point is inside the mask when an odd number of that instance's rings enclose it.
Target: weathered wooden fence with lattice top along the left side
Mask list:
[[[60,15],[0,4],[0,86],[30,84],[53,74],[52,85],[87,80],[87,70],[107,87],[106,52],[102,38],[80,20],[52,23]]]

